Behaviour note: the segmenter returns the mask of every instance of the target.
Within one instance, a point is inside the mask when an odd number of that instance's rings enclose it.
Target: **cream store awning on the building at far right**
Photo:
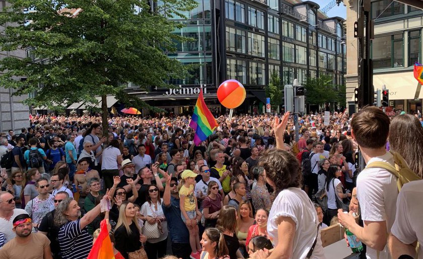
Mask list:
[[[413,71],[373,75],[375,90],[382,90],[382,86],[385,85],[389,90],[389,100],[413,100],[417,84]]]

